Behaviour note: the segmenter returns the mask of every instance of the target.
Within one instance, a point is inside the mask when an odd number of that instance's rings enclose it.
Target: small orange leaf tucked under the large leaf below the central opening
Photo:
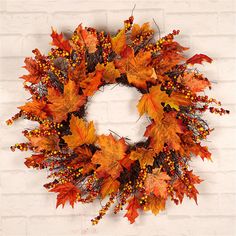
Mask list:
[[[120,182],[116,179],[113,179],[111,176],[105,178],[101,187],[101,196],[104,199],[107,195],[111,193],[116,193],[120,187]]]

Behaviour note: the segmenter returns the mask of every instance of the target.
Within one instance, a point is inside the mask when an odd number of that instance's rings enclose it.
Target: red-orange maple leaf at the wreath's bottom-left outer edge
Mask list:
[[[80,190],[72,183],[58,184],[50,192],[58,193],[57,195],[57,205],[56,207],[62,205],[68,201],[70,205],[74,208],[74,203],[79,198]]]

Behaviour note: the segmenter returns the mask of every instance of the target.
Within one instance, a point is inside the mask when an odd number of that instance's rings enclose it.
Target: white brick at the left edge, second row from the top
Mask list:
[[[1,34],[48,34],[48,15],[45,13],[5,13],[1,17]]]

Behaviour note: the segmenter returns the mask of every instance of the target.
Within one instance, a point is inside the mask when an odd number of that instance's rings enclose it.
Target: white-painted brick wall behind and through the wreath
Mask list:
[[[29,96],[21,89],[23,58],[38,47],[50,48],[50,27],[70,32],[84,25],[116,31],[130,16],[136,3],[135,19],[141,23],[155,18],[161,32],[180,29],[179,41],[194,53],[213,57],[212,65],[200,66],[215,82],[209,93],[222,100],[230,116],[209,114],[216,127],[207,144],[213,163],[193,161],[192,166],[205,181],[199,187],[199,205],[184,201],[182,206],[168,202],[158,216],[141,214],[136,224],[108,214],[98,226],[90,224],[100,204],[76,205],[75,209],[55,209],[54,194],[42,187],[45,172],[24,167],[25,153],[9,151],[22,141],[19,121],[6,127],[4,120]],[[103,236],[233,236],[236,235],[236,1],[235,0],[1,0],[0,1],[0,235],[103,235]],[[97,95],[89,107],[100,132],[112,129],[133,140],[141,137],[146,120],[137,120],[137,96],[124,88]],[[121,113],[122,108],[122,113]]]

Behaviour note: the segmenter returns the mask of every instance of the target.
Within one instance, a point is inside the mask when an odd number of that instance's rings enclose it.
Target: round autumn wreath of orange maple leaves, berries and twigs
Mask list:
[[[200,143],[211,131],[201,115],[229,112],[202,93],[211,84],[192,67],[212,59],[203,54],[185,58],[187,48],[174,41],[178,33],[155,40],[149,23],[133,24],[131,16],[114,36],[79,25],[68,40],[53,30],[55,47],[48,55],[35,49],[34,58],[25,59],[29,74],[21,78],[31,101],[7,123],[23,117],[38,127],[24,130],[28,141],[11,148],[31,150],[26,166],[50,171],[52,181],[44,186],[58,193],[57,206],[108,197],[92,223],[112,204],[114,213],[127,205],[125,216],[133,223],[139,210],[164,210],[167,198],[178,204],[186,195],[197,202],[195,185],[202,180],[189,161],[211,159]],[[97,135],[86,120],[89,97],[108,84],[142,94],[137,108],[151,122],[144,141]]]

